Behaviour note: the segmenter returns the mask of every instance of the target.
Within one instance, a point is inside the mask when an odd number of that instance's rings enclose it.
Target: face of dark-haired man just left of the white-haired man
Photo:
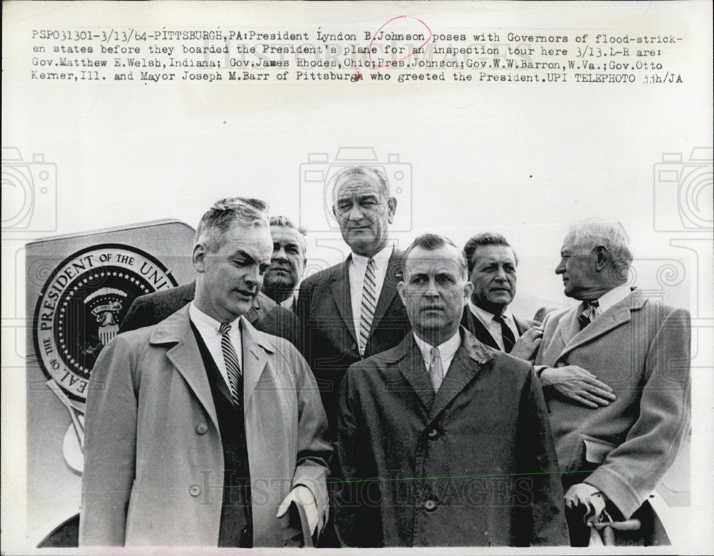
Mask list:
[[[498,315],[516,295],[516,256],[506,246],[480,246],[473,252],[474,305]]]

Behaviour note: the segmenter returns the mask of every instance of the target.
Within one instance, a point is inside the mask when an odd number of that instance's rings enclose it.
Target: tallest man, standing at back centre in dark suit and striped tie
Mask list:
[[[332,211],[351,253],[344,263],[306,278],[298,295],[303,354],[315,373],[334,433],[338,388],[348,366],[393,348],[409,323],[397,295],[401,253],[389,240],[397,208],[379,168],[336,173]]]

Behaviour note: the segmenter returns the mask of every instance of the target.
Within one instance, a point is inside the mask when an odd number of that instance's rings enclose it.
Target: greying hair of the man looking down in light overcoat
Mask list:
[[[228,197],[216,201],[201,217],[193,244],[203,243],[214,253],[223,244],[222,236],[234,223],[241,228],[269,226],[268,203],[260,199]]]

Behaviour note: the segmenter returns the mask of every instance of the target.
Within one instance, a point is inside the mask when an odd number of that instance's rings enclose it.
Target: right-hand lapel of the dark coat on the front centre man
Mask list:
[[[429,410],[429,420],[433,420],[441,413],[453,398],[471,382],[481,367],[488,360],[493,359],[493,355],[481,345],[466,330],[459,330],[461,333],[461,347],[456,351],[446,376],[441,383],[441,388],[434,396],[431,410]]]

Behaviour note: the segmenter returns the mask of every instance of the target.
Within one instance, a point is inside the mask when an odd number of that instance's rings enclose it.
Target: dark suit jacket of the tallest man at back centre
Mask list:
[[[396,289],[402,279],[401,258],[398,251],[389,258],[365,357],[393,348],[411,330]],[[349,261],[351,256],[306,278],[298,294],[301,349],[317,380],[333,433],[340,383],[347,368],[361,360],[352,315]]]

